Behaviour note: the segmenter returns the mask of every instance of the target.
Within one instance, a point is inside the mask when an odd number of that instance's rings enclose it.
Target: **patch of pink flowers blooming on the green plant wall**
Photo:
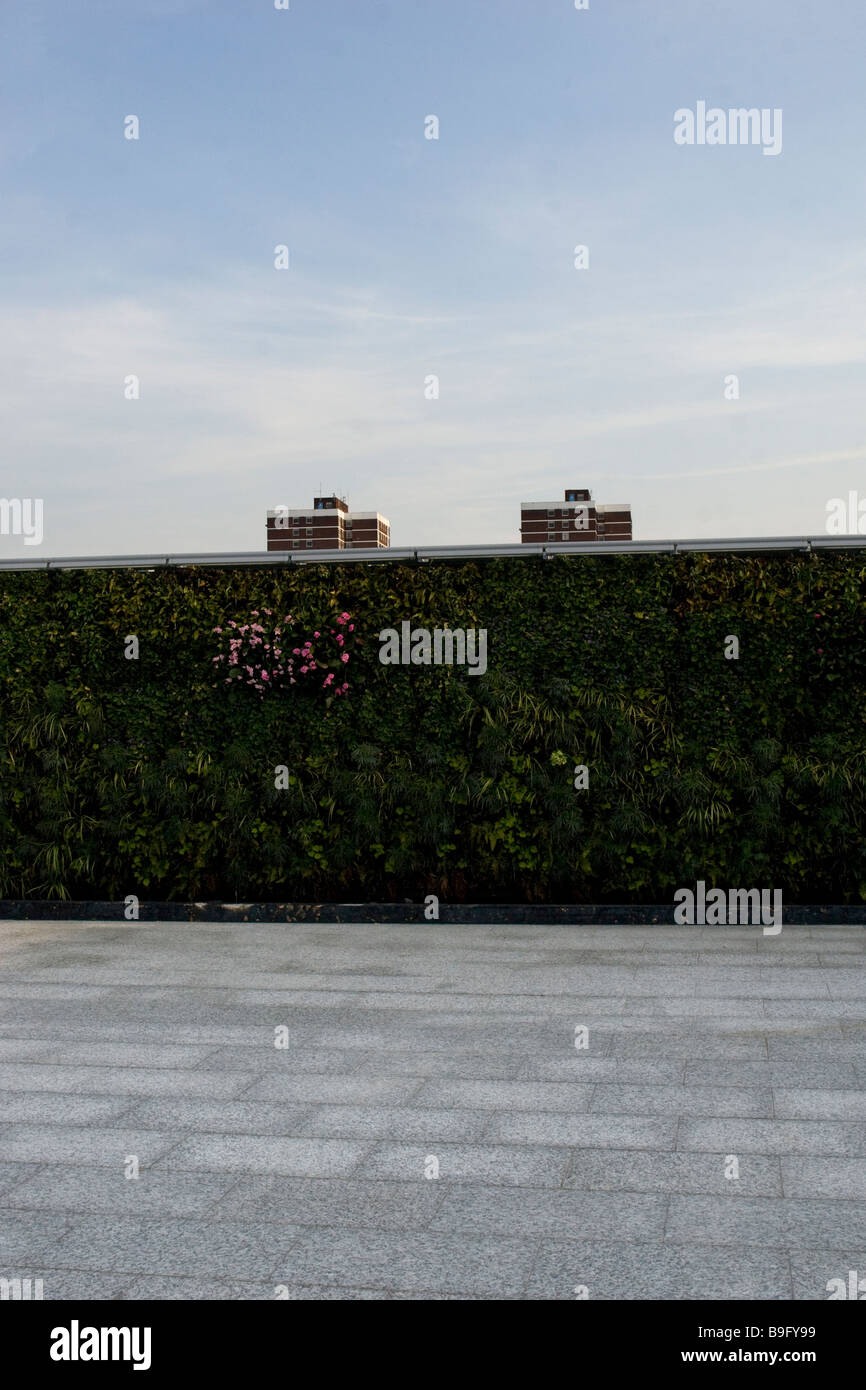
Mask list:
[[[316,680],[317,673],[324,676],[320,688],[329,696],[345,695],[349,682],[339,681],[338,674],[345,674],[349,662],[350,634],[354,632],[350,619],[350,613],[339,613],[331,620],[336,626],[328,628],[327,635],[317,630],[311,638],[302,638],[293,630],[291,613],[274,619],[271,609],[253,609],[249,621],[232,619],[225,627],[213,628],[224,648],[213,662],[227,671],[227,685],[250,685],[260,695],[275,685]]]

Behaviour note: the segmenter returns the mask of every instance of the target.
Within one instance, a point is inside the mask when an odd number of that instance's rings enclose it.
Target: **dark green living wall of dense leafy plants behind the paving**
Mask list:
[[[866,899],[865,577],[841,550],[4,573],[0,897]],[[350,614],[343,695],[225,682],[213,628],[264,609]],[[382,666],[402,620],[487,628],[487,674]]]

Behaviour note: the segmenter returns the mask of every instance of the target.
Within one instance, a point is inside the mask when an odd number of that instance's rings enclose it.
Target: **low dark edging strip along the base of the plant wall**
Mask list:
[[[125,922],[122,902],[0,901],[0,922]],[[139,922],[418,922],[420,902],[142,902]],[[575,903],[448,903],[439,922],[464,926],[674,926],[671,903],[602,906]],[[866,903],[788,905],[783,924],[866,926]],[[432,923],[431,923],[432,924]]]

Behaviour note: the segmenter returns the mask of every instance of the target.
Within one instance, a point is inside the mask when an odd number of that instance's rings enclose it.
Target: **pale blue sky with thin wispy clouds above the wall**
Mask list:
[[[635,539],[824,534],[865,51],[862,0],[3,0],[0,496],[43,539],[0,556],[263,550],[328,492],[396,546],[575,486]],[[781,150],[677,143],[699,101]]]

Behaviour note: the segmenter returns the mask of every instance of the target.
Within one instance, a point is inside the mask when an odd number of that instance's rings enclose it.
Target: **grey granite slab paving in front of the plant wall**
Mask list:
[[[826,1300],[866,1273],[865,949],[3,922],[0,1275],[46,1300]]]

